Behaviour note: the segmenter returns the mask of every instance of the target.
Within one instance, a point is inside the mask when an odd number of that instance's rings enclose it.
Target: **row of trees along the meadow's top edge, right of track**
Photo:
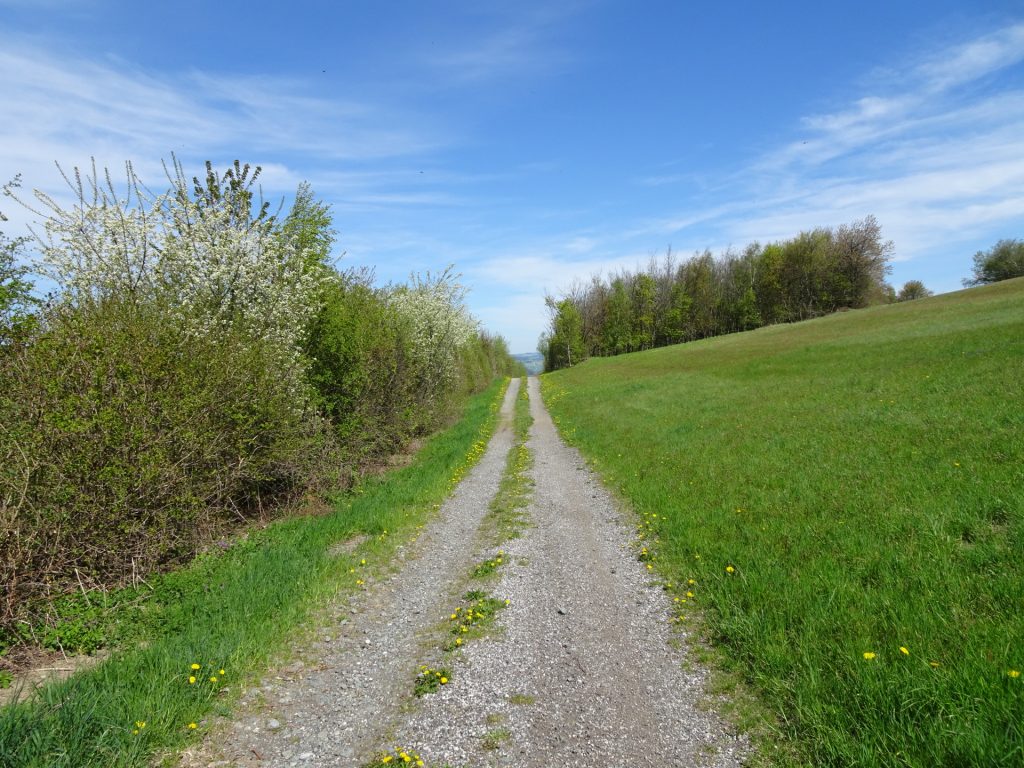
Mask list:
[[[891,301],[885,282],[893,245],[873,216],[818,228],[742,253],[711,251],[678,261],[670,252],[646,269],[595,275],[561,299],[548,297],[541,337],[552,371],[588,356],[633,352],[841,308]]]

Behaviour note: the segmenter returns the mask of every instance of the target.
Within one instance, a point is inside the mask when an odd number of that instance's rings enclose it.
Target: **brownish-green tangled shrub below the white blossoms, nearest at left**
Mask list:
[[[152,304],[58,305],[0,367],[0,581],[26,601],[186,558],[297,493],[325,437],[287,355]]]

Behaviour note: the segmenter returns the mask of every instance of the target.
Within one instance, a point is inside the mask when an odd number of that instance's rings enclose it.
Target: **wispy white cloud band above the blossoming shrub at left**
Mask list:
[[[393,161],[442,144],[439,132],[397,110],[311,95],[304,84],[281,78],[154,76],[123,61],[71,59],[15,44],[0,50],[0,171],[8,176],[54,161],[87,162],[83,151],[102,164],[134,159],[154,171],[171,152],[230,160],[241,147],[281,170],[281,158]]]

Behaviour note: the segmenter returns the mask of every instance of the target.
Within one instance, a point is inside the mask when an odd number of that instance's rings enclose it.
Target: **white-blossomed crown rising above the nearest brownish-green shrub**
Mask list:
[[[130,165],[120,197],[110,175],[101,183],[95,170],[85,181],[76,170],[71,207],[36,193],[45,216],[42,260],[65,300],[158,300],[195,336],[234,327],[298,348],[324,272],[282,236],[265,206],[251,214],[248,167],[236,164],[223,181],[208,169],[207,188],[197,184],[205,199],[174,169],[161,195],[148,193]]]

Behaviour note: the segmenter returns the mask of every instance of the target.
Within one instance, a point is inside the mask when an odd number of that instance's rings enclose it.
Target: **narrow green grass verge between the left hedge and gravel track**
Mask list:
[[[388,564],[480,456],[503,392],[496,382],[472,398],[410,466],[364,483],[332,513],[254,531],[159,580],[136,615],[121,612],[135,628],[125,636],[141,642],[0,709],[0,766],[145,765],[196,738],[206,716],[229,707],[239,680],[265,667],[317,606]],[[335,548],[359,536],[353,552]]]

